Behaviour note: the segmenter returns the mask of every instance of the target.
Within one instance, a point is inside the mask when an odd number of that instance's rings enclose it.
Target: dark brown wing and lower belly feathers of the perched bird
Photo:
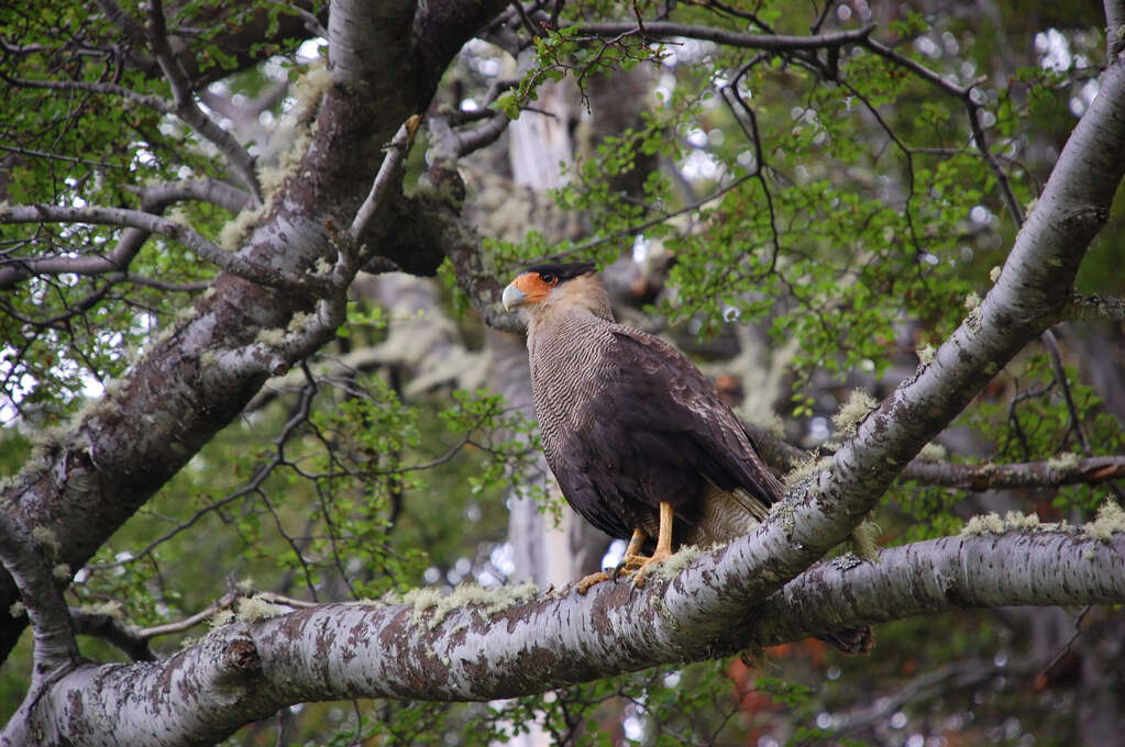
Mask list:
[[[705,483],[741,489],[763,505],[781,485],[770,474],[714,386],[674,347],[615,327],[598,392],[552,465],[572,505],[615,537],[644,526],[662,501],[686,522],[701,510]]]

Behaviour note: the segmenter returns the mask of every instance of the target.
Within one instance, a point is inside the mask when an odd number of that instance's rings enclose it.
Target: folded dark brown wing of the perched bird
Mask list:
[[[615,459],[663,465],[648,474],[670,484],[641,486],[647,490],[640,493],[651,497],[665,488],[686,492],[690,486],[676,485],[674,475],[702,474],[726,492],[742,493],[740,500],[766,507],[778,500],[780,482],[714,385],[687,358],[660,338],[620,325],[614,325],[613,338],[609,357],[614,365],[590,404],[593,436],[610,446]],[[676,502],[674,494],[670,502]],[[760,513],[755,510],[760,507],[746,508]]]

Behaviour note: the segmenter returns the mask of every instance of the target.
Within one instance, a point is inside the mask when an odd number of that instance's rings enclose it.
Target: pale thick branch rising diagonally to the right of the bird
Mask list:
[[[764,553],[723,595],[776,591],[843,541],[929,443],[1069,298],[1078,265],[1109,215],[1125,173],[1125,65],[1101,78],[1016,239],[996,285],[933,363],[860,425],[829,468],[793,489],[756,532]],[[706,625],[700,621],[700,625]]]

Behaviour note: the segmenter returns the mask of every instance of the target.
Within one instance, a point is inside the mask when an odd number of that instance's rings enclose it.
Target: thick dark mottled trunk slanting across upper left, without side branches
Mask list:
[[[111,4],[111,3],[110,3]],[[442,24],[442,9],[470,8],[465,25]],[[336,256],[333,230],[351,225],[384,158],[382,146],[436,88],[441,70],[482,21],[503,3],[362,3],[340,1],[330,13],[332,85],[324,93],[302,157],[290,177],[233,256],[280,273],[307,274]],[[461,16],[459,16],[460,18]],[[423,34],[424,35],[420,35]],[[446,57],[438,64],[436,55]],[[392,209],[386,206],[385,209]],[[432,273],[440,252],[386,236],[386,221],[363,237],[399,266]],[[386,249],[384,247],[387,247]],[[330,325],[292,335],[269,348],[262,330],[286,330],[298,312],[316,309],[312,293],[281,292],[220,275],[195,315],[154,341],[101,402],[62,436],[44,444],[3,492],[12,520],[39,528],[57,548],[47,567],[78,568],[219,429],[262,382],[331,338]],[[26,625],[12,618],[19,599],[10,575],[0,579],[0,649],[10,652]]]

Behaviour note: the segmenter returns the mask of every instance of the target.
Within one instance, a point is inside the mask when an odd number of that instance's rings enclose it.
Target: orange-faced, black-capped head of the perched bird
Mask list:
[[[613,319],[610,297],[593,262],[566,262],[528,267],[507,284],[504,308],[518,309],[529,320],[555,310],[586,310]]]

